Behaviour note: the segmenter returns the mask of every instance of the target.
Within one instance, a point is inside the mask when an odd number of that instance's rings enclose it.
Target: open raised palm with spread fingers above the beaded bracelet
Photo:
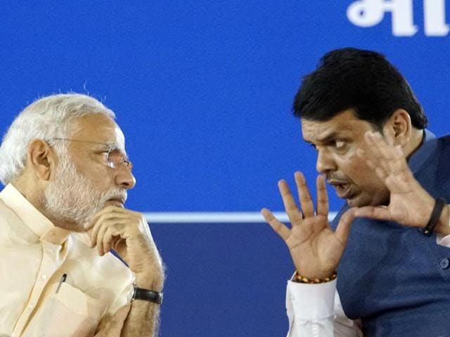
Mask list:
[[[336,231],[333,232],[328,223],[328,194],[324,178],[318,176],[316,180],[316,213],[314,213],[314,204],[302,173],[295,172],[295,183],[301,209],[297,207],[285,180],[278,182],[291,228],[278,221],[269,209],[262,209],[261,213],[288,246],[295,268],[300,275],[319,279],[330,277],[337,269],[347,244],[350,225],[354,219],[354,209],[342,215]]]

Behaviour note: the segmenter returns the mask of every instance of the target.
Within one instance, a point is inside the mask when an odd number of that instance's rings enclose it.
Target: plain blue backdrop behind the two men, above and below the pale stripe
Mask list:
[[[380,51],[448,130],[450,1],[4,1],[0,132],[76,91],[117,114],[142,212],[281,211],[314,150],[290,112],[323,53]],[[341,201],[333,196],[330,209]],[[150,223],[167,263],[162,336],[282,336],[287,249],[262,223]]]

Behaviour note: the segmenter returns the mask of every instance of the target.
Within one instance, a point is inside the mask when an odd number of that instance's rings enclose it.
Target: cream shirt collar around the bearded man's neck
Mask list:
[[[8,206],[32,230],[41,241],[51,244],[63,244],[70,235],[70,230],[56,227],[39,212],[13,185],[8,184],[0,192],[0,200]]]

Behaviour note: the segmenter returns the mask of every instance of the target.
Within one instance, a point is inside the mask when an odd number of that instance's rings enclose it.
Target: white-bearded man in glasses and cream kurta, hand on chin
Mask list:
[[[0,334],[155,336],[164,271],[115,114],[41,98],[0,147]],[[110,253],[114,250],[127,264]]]

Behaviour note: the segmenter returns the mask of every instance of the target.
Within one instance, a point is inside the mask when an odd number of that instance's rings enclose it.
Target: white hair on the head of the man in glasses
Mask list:
[[[72,120],[90,114],[115,119],[113,111],[88,95],[49,95],[25,107],[6,132],[0,145],[0,180],[7,185],[20,176],[27,162],[27,147],[35,139],[70,138]]]

